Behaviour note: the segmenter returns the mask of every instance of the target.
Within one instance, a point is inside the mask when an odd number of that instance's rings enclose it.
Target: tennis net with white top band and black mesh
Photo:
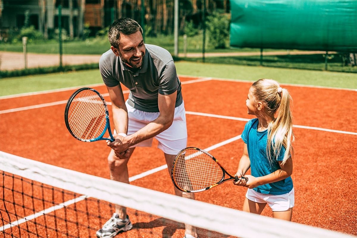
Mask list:
[[[96,237],[114,204],[128,207],[133,229],[120,237],[352,237],[91,176],[0,151],[0,234]],[[114,188],[114,189],[113,189]],[[278,229],[277,229],[278,227]]]

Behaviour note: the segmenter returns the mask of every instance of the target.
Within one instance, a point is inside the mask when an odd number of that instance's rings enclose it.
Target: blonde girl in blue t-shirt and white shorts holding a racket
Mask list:
[[[266,204],[273,217],[291,221],[294,207],[292,184],[292,114],[287,89],[270,79],[252,84],[246,106],[255,115],[242,133],[245,142],[236,176],[247,177],[233,182],[248,188],[243,211],[261,214]],[[251,175],[245,175],[251,168]]]

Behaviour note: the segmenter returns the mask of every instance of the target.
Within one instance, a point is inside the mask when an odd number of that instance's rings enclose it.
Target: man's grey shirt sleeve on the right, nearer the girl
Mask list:
[[[169,61],[159,79],[159,93],[162,95],[170,95],[174,93],[178,88],[176,67],[173,60]]]

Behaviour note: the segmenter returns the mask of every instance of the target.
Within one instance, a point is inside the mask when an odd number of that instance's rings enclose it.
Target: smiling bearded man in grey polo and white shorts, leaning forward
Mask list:
[[[155,45],[145,45],[140,25],[121,18],[109,27],[111,49],[99,61],[101,76],[112,101],[115,127],[109,156],[110,177],[129,183],[127,163],[136,146],[150,147],[155,137],[165,155],[169,172],[175,155],[186,147],[187,129],[181,82],[171,54]],[[125,102],[121,83],[130,90]],[[175,194],[194,199],[193,194]],[[116,212],[97,231],[98,237],[113,237],[132,228],[126,208]],[[186,225],[185,237],[197,237],[195,227]]]

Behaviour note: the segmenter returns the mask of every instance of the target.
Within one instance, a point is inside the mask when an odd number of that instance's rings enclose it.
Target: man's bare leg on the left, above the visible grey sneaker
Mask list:
[[[129,149],[130,157],[134,152],[134,149],[135,148]],[[115,156],[114,150],[110,151],[108,156],[110,179],[123,183],[129,183],[129,173],[128,173],[127,163],[130,157],[128,159],[120,159]],[[126,218],[126,207],[115,205],[115,212],[119,215],[120,219]]]

